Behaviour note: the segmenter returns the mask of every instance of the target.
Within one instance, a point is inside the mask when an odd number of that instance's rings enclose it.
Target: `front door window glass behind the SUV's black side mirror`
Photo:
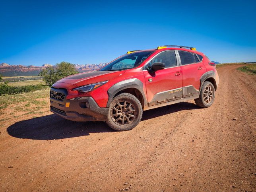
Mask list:
[[[175,67],[177,66],[176,55],[173,50],[163,51],[155,56],[152,60],[150,60],[146,66],[145,70],[151,70],[151,66],[153,63],[161,62],[165,64],[165,68]]]

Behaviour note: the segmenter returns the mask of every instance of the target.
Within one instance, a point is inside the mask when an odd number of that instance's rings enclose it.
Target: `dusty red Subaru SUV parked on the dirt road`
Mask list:
[[[193,47],[128,51],[100,70],[54,83],[50,111],[68,120],[102,120],[114,130],[131,130],[145,110],[191,99],[210,107],[219,83],[215,67]]]

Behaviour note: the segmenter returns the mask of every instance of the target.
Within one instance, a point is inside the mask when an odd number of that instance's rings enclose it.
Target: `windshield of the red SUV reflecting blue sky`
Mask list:
[[[101,68],[100,71],[119,71],[138,67],[153,52],[154,51],[143,51],[126,54],[107,64],[105,67]]]

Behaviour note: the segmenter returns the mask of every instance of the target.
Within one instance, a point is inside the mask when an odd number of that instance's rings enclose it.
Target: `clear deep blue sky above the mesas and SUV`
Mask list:
[[[109,62],[128,50],[196,47],[256,61],[255,1],[0,0],[0,63]]]

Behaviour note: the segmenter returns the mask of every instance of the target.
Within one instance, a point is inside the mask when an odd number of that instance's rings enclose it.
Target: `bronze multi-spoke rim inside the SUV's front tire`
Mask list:
[[[111,118],[119,126],[126,126],[136,119],[137,111],[132,101],[118,100],[111,108]]]

